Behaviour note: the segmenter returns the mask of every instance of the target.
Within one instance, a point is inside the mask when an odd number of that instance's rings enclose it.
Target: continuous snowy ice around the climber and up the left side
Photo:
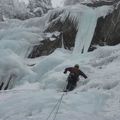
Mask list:
[[[12,89],[0,91],[0,120],[47,120],[66,86],[64,69],[76,63],[88,79],[80,77],[77,88],[64,95],[56,119],[119,120],[120,45],[98,46],[82,55],[61,48],[28,59],[32,46],[44,36],[45,20],[0,23],[0,83],[12,75]]]

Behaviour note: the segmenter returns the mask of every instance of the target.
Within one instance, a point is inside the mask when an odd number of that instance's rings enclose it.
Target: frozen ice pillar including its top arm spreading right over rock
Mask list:
[[[96,9],[85,7],[79,15],[78,33],[76,35],[73,54],[86,53],[91,44],[97,19],[106,16],[113,10],[112,6],[102,6]]]

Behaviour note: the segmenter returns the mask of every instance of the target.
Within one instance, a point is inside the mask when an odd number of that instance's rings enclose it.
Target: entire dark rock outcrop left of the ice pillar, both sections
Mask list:
[[[54,36],[55,40],[50,41],[50,38],[44,39],[40,42],[39,45],[34,46],[32,52],[28,56],[29,58],[35,58],[42,55],[51,54],[56,48],[62,47],[62,40],[65,49],[71,49],[74,47],[75,37],[76,37],[76,24],[69,19],[69,16],[66,17],[64,22],[61,22],[60,19],[57,19],[64,11],[60,11],[54,15],[51,15],[49,19],[50,25],[44,31],[45,33],[54,33],[58,31],[60,35]],[[56,20],[56,21],[55,21]]]

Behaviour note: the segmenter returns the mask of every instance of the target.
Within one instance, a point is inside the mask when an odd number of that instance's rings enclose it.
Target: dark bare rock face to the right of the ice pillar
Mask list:
[[[120,5],[105,18],[99,18],[92,44],[116,45],[120,43]]]

